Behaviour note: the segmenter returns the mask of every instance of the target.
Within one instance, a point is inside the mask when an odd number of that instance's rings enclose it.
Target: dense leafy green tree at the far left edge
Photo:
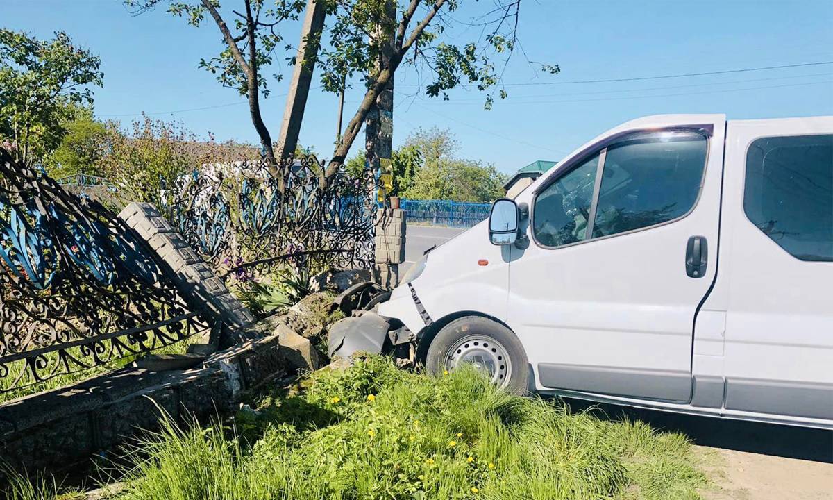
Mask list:
[[[0,29],[0,140],[20,163],[42,161],[57,148],[65,124],[101,87],[101,60],[65,32],[49,41]]]

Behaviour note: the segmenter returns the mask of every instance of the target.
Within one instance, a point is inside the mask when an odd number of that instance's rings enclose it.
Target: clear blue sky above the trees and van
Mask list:
[[[456,18],[471,18],[481,12],[477,9],[489,6],[490,0],[481,0]],[[197,68],[201,57],[211,57],[220,47],[213,23],[192,28],[164,8],[132,17],[117,0],[0,0],[0,13],[4,28],[37,37],[63,30],[102,57],[104,87],[96,90],[95,102],[99,117],[127,124],[144,111],[181,120],[202,136],[211,132],[221,140],[257,142],[242,97]],[[297,42],[297,32],[284,33],[287,42]],[[415,97],[415,75],[402,74],[397,77],[394,145],[415,128],[451,128],[461,143],[461,157],[478,158],[511,172],[536,159],[558,160],[607,128],[648,114],[726,112],[730,118],[833,114],[833,64],[569,83],[833,62],[833,0],[524,0],[519,34],[530,60],[557,63],[562,71],[557,76],[536,75],[516,54],[505,81],[553,84],[507,87],[509,98],[484,111],[483,97],[476,91],[452,92],[449,102]],[[464,42],[476,33],[457,30],[454,37]],[[275,97],[262,106],[272,137],[280,127],[285,89],[285,82],[272,83]],[[358,92],[348,94],[345,121],[359,97]],[[220,104],[230,105],[195,109]],[[336,115],[337,97],[313,91],[301,142],[326,157],[332,151]],[[353,151],[362,145],[363,134]]]

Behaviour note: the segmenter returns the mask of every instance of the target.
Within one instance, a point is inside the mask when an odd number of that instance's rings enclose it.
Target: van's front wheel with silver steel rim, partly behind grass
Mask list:
[[[439,375],[470,363],[491,383],[513,394],[528,389],[529,362],[521,341],[500,323],[480,316],[458,318],[443,327],[428,347],[426,367]]]

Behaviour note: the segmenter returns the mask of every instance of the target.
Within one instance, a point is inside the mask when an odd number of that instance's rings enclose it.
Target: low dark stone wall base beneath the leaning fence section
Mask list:
[[[124,368],[0,406],[0,458],[28,473],[66,471],[157,429],[162,413],[183,422],[235,411],[242,391],[292,366],[276,328],[271,318],[252,325],[247,335],[260,338],[215,353],[199,368]]]

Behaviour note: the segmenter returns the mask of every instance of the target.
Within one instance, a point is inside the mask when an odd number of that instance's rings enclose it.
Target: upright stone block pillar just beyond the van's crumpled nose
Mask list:
[[[399,264],[405,262],[406,224],[405,211],[401,208],[377,210],[373,277],[385,288],[399,284]]]

